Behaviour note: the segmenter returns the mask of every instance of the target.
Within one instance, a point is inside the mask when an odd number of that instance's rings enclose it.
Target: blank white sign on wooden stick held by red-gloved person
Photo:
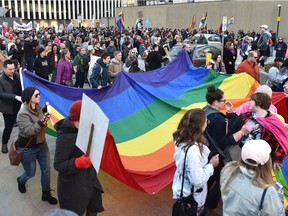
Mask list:
[[[89,157],[95,170],[98,172],[102,159],[109,119],[92,99],[83,94],[76,146],[78,146],[84,153],[87,151],[92,124],[94,124],[94,132]]]

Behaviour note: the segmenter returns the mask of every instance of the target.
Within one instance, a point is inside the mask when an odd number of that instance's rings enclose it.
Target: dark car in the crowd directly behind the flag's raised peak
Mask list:
[[[171,59],[174,59],[179,52],[183,49],[183,45],[175,45],[170,50],[169,54]],[[220,49],[211,45],[191,44],[190,59],[195,67],[205,67],[206,53],[212,52],[213,54],[221,55]]]

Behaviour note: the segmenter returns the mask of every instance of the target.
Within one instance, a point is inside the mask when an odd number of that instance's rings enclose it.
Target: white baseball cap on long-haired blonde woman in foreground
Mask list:
[[[271,147],[264,140],[249,140],[241,150],[241,158],[250,166],[264,165],[270,158]]]

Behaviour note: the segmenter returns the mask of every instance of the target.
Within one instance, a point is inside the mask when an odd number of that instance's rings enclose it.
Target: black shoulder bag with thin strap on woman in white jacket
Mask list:
[[[198,203],[195,201],[194,194],[194,185],[191,188],[191,194],[188,197],[183,197],[183,186],[184,186],[184,174],[185,174],[185,161],[189,148],[187,148],[184,157],[184,166],[182,174],[182,186],[180,198],[174,203],[172,208],[172,216],[196,216],[198,212]]]

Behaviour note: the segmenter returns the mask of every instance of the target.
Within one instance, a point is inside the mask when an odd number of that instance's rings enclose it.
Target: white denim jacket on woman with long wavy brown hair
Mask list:
[[[185,157],[184,146],[185,144],[183,143],[179,146],[175,146],[174,160],[176,172],[172,185],[173,199],[178,199],[180,197]],[[207,181],[214,172],[213,165],[208,163],[209,153],[210,151],[207,146],[203,146],[203,152],[201,154],[198,144],[195,143],[189,148],[185,161],[186,170],[184,174],[183,197],[187,197],[191,194],[191,188],[192,185],[194,185],[194,199],[198,202],[198,207],[205,204]]]

